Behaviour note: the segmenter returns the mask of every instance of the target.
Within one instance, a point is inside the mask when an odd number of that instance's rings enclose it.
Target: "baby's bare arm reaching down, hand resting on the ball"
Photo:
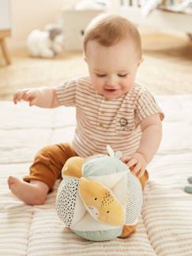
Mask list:
[[[162,138],[160,115],[151,115],[143,119],[140,125],[142,136],[137,151],[130,156],[122,157],[122,161],[126,163],[139,178],[144,175],[146,165],[149,164],[159,148]]]

